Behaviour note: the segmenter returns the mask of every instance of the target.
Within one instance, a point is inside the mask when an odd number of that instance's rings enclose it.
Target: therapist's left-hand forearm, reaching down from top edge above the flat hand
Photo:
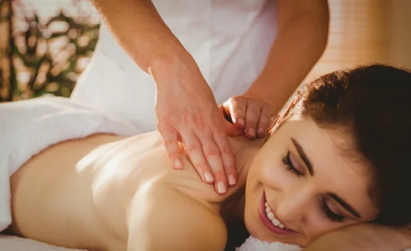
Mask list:
[[[142,70],[158,62],[184,58],[188,52],[149,0],[92,0],[111,34]]]

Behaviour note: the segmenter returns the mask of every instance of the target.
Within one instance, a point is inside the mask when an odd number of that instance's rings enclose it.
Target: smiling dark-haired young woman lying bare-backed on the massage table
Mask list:
[[[9,231],[87,250],[224,250],[240,222],[258,239],[309,250],[338,228],[406,226],[410,91],[411,73],[390,66],[316,79],[268,139],[229,139],[238,184],[223,196],[188,159],[173,170],[157,132],[55,144],[12,176]]]

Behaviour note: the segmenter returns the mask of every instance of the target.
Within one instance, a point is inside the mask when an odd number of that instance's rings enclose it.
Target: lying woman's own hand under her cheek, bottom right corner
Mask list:
[[[410,247],[408,229],[357,224],[327,233],[303,251],[403,251]]]

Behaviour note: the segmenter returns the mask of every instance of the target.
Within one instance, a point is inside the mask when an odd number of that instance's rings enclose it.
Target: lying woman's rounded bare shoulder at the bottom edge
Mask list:
[[[171,183],[152,184],[138,191],[129,212],[128,250],[225,248],[227,229],[219,212]]]

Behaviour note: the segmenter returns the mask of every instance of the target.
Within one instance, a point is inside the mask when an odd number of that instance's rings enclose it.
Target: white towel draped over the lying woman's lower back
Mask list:
[[[48,146],[95,133],[136,135],[139,131],[130,122],[69,98],[0,104],[0,232],[12,222],[10,176]]]

